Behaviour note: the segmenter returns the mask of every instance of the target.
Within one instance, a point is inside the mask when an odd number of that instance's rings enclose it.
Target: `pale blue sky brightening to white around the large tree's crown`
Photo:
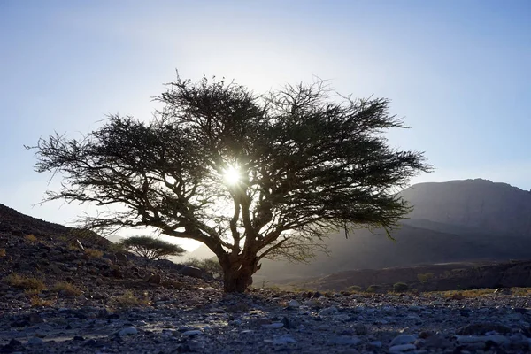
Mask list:
[[[109,113],[150,119],[176,78],[256,93],[317,75],[338,92],[392,100],[399,149],[435,172],[531,189],[527,0],[0,1],[0,204],[71,225],[79,205],[38,204],[60,178],[35,145],[79,137]]]

